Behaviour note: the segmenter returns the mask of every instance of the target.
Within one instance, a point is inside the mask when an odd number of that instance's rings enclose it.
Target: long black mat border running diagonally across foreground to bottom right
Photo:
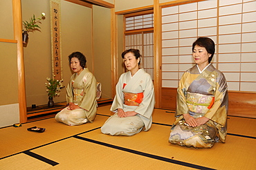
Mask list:
[[[92,142],[94,144],[100,144],[104,147],[110,147],[112,149],[118,149],[120,151],[126,151],[126,152],[129,152],[129,153],[134,153],[136,155],[142,155],[142,156],[145,156],[147,158],[162,160],[162,161],[165,161],[165,162],[170,162],[172,164],[179,164],[179,165],[182,165],[182,166],[185,166],[185,167],[190,167],[190,168],[194,168],[194,169],[209,169],[209,170],[211,169],[211,168],[202,167],[202,166],[196,165],[196,164],[190,164],[188,162],[181,162],[179,160],[172,160],[170,158],[165,158],[165,157],[158,156],[158,155],[152,155],[150,153],[140,152],[140,151],[136,151],[136,150],[133,150],[133,149],[127,149],[127,148],[124,148],[124,147],[118,147],[118,146],[113,145],[113,144],[107,144],[105,142],[100,142],[100,141],[97,141],[97,140],[91,140],[89,138],[83,138],[83,137],[77,136],[77,135],[73,136],[73,138],[77,138],[77,139],[80,139],[80,140],[85,140],[86,142]]]

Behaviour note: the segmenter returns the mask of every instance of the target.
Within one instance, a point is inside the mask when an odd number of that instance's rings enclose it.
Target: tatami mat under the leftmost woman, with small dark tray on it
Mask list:
[[[67,126],[56,122],[55,118],[50,118],[22,124],[21,127],[10,126],[0,129],[0,158],[100,127],[107,118],[107,116],[96,116],[93,123],[80,126]],[[33,126],[46,128],[46,131],[44,133],[27,131]]]

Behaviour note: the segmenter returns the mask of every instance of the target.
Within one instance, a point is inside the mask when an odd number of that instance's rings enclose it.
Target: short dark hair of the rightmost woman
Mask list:
[[[194,41],[193,45],[192,45],[192,51],[194,51],[194,46],[201,46],[204,47],[207,52],[210,55],[208,62],[210,63],[212,61],[212,57],[215,53],[215,44],[214,41],[212,41],[212,39],[208,38],[208,37],[199,37],[198,39],[196,39],[196,41]]]

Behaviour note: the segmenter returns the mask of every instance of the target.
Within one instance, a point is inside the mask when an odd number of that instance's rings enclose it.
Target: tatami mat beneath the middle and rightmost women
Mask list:
[[[254,169],[256,167],[255,139],[228,136],[226,141],[228,144],[219,142],[214,144],[212,149],[194,149],[169,144],[168,131],[170,131],[168,126],[153,124],[149,132],[140,132],[140,135],[134,135],[132,140],[128,140],[129,137],[125,136],[109,138],[109,135],[100,133],[100,129],[80,136],[205,168]],[[231,159],[227,160],[227,158]]]

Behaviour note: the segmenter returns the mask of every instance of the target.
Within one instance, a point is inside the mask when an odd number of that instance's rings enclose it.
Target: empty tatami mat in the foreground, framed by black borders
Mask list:
[[[167,162],[75,138],[56,142],[33,152],[59,162],[54,169],[170,169]],[[174,165],[173,168],[184,169],[181,165]]]

